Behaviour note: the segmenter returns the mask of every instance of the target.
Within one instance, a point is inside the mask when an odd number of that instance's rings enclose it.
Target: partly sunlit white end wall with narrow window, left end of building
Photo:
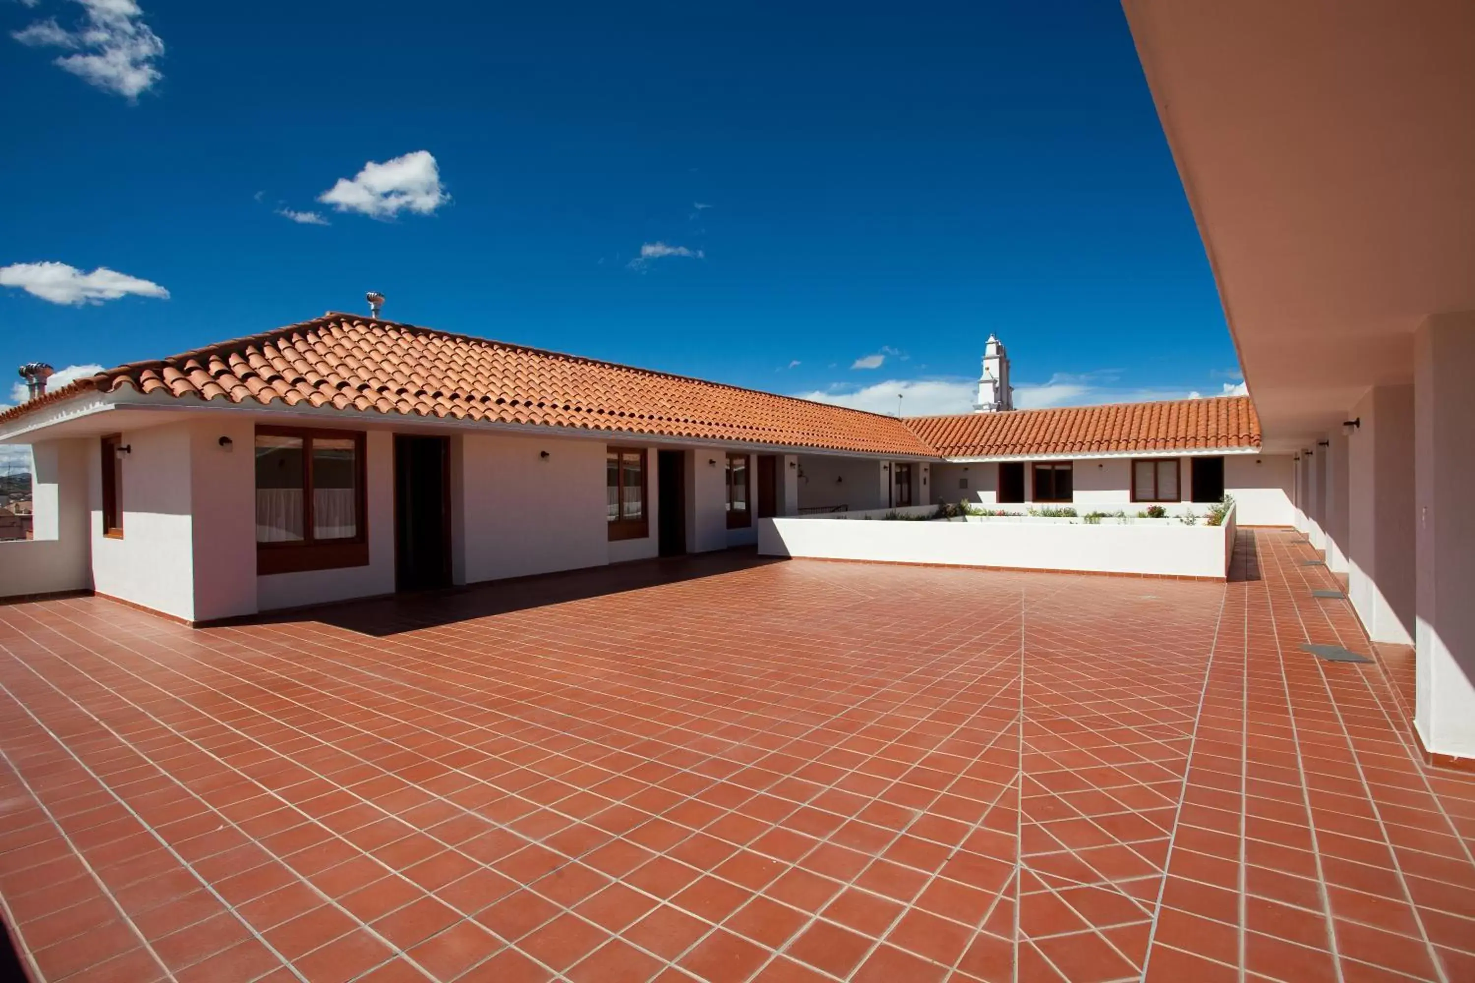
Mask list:
[[[195,523],[190,424],[124,430],[122,538],[102,534],[102,448],[88,466],[93,588],[99,594],[195,620]]]

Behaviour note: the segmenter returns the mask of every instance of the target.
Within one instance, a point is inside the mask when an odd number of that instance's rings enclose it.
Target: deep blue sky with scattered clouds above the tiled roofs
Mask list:
[[[0,0],[0,29],[6,371],[376,289],[886,413],[966,411],[991,330],[1025,405],[1238,382],[1115,3]]]

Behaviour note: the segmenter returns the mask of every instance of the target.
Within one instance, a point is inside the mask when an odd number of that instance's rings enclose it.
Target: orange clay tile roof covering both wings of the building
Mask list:
[[[86,391],[158,391],[236,404],[307,402],[699,441],[993,457],[1260,445],[1248,396],[895,417],[701,379],[326,314],[171,358],[119,365],[0,413],[0,423]]]

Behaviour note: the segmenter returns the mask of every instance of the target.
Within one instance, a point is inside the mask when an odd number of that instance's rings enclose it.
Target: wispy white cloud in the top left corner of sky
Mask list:
[[[22,0],[25,1],[25,0]],[[105,91],[130,102],[148,91],[164,74],[153,66],[164,55],[164,41],[143,22],[134,0],[72,0],[83,7],[75,28],[60,27],[55,18],[10,34],[21,44],[60,47],[56,65]],[[34,6],[25,3],[25,6]]]

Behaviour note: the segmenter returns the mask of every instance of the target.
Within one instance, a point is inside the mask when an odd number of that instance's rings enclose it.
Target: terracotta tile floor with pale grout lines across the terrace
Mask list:
[[[1229,585],[701,557],[189,631],[0,607],[37,980],[1475,980],[1475,781]]]

